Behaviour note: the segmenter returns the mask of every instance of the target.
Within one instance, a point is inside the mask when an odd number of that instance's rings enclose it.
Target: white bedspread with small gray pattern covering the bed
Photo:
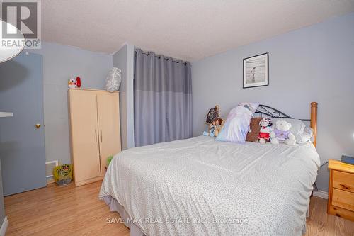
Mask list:
[[[120,152],[99,198],[115,198],[147,235],[301,235],[318,167],[310,143],[200,136]]]

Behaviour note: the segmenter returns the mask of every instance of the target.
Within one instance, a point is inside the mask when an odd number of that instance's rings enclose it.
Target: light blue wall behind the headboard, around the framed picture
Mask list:
[[[269,52],[269,86],[242,89],[242,59],[263,52]],[[353,69],[354,13],[193,62],[193,135],[202,134],[215,104],[223,116],[239,102],[258,101],[309,118],[309,103],[317,101],[321,162],[354,155]],[[328,191],[328,179],[324,166],[320,190]]]

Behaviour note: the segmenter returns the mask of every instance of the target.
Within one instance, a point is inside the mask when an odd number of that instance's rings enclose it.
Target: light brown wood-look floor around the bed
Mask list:
[[[103,201],[98,200],[101,181],[74,187],[50,184],[47,188],[5,198],[6,235],[130,235]],[[326,214],[326,200],[312,197],[306,235],[354,235],[354,222]]]

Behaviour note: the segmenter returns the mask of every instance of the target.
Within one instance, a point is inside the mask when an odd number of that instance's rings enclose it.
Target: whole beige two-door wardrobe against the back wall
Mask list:
[[[75,185],[103,179],[107,157],[121,150],[118,92],[69,89],[69,117]]]

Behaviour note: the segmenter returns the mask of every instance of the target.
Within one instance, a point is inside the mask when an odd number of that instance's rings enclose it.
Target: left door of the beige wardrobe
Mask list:
[[[76,186],[101,176],[95,91],[69,90],[72,160]]]

